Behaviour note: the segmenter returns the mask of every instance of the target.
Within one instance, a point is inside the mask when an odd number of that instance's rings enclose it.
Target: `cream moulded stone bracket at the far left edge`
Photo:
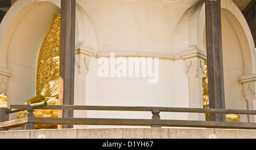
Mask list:
[[[11,76],[11,71],[0,67],[0,93],[6,93],[9,76]]]

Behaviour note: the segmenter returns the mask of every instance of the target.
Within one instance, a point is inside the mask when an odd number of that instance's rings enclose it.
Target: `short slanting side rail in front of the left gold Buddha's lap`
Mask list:
[[[15,107],[17,109],[11,108],[11,106],[12,105],[10,105],[10,109],[6,109],[6,111],[5,111],[6,114],[17,113],[17,112],[27,110],[28,106],[31,106],[33,109],[44,107],[44,106],[47,106],[47,102],[46,101],[45,102],[39,102],[39,103],[36,103],[36,104],[31,104],[31,105],[15,105]]]

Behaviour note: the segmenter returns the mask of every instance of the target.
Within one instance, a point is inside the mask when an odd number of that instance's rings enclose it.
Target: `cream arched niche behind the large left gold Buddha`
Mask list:
[[[35,96],[36,66],[43,39],[59,1],[18,0],[1,23],[0,66],[11,70],[7,95],[11,104],[23,104]]]

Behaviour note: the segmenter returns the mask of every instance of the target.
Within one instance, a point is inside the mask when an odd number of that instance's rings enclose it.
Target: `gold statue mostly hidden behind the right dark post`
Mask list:
[[[203,83],[203,107],[205,109],[209,109],[209,93],[208,93],[208,67],[207,67],[207,60],[204,62],[204,69],[205,73],[202,79]],[[210,114],[205,113],[205,121],[210,121]],[[240,115],[239,114],[226,114],[226,122],[240,122]]]

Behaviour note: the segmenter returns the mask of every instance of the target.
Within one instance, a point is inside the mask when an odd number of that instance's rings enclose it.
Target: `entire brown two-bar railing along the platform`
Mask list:
[[[115,118],[38,118],[34,117],[35,109],[52,110],[110,110],[151,112],[152,119],[115,119]],[[27,110],[26,118],[9,121],[9,114]],[[239,128],[256,129],[256,123],[218,122],[160,119],[160,112],[176,113],[219,113],[256,115],[256,110],[203,109],[203,108],[167,108],[167,107],[133,107],[133,106],[77,106],[47,105],[41,102],[31,105],[10,105],[0,108],[0,131],[25,126],[25,130],[34,130],[35,125],[110,125],[110,126],[151,126],[151,127],[204,127],[204,128]]]

